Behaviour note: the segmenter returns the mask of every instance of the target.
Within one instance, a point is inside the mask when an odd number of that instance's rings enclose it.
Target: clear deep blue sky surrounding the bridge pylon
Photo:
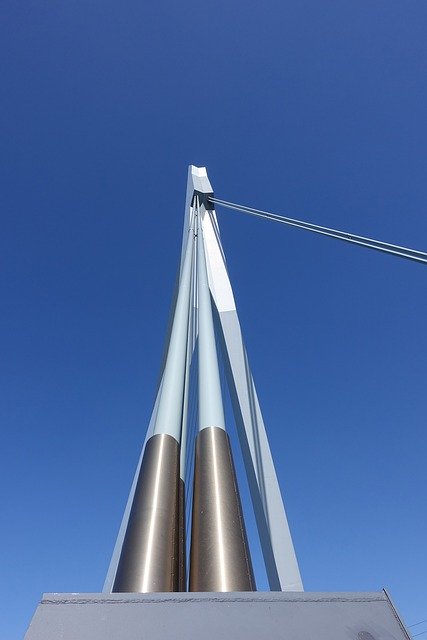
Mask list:
[[[427,5],[0,12],[0,637],[15,640],[43,592],[102,588],[189,164],[218,197],[427,249]],[[408,624],[427,618],[427,269],[218,217],[305,588],[386,586]]]

